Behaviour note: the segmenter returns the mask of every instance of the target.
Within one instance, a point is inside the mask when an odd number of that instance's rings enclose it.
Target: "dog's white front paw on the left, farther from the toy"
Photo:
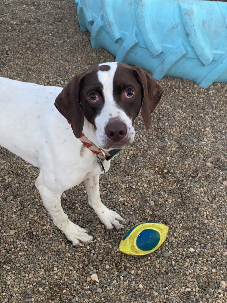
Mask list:
[[[93,237],[88,235],[86,229],[81,228],[71,221],[67,222],[64,233],[66,237],[73,242],[74,246],[83,246],[93,240]]]

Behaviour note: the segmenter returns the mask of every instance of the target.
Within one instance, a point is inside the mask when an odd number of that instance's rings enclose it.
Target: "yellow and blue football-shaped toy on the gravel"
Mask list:
[[[127,255],[150,254],[162,245],[168,230],[168,226],[162,223],[139,223],[123,236],[119,250]]]

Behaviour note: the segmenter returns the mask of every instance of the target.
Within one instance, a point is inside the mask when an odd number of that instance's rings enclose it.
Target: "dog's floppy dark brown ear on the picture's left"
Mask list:
[[[58,111],[71,122],[73,133],[77,138],[80,138],[84,127],[84,113],[78,96],[80,79],[81,75],[75,75],[54,102]]]

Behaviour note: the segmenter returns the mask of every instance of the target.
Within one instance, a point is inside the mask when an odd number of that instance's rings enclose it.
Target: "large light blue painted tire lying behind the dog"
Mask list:
[[[196,0],[76,0],[93,48],[159,80],[227,82],[227,3]]]

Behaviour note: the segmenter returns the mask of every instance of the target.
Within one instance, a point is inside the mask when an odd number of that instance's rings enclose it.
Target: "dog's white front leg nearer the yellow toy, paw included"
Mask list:
[[[120,229],[125,224],[124,219],[117,212],[108,209],[101,201],[99,193],[99,175],[84,180],[87,191],[88,204],[94,209],[100,221],[107,229]]]

